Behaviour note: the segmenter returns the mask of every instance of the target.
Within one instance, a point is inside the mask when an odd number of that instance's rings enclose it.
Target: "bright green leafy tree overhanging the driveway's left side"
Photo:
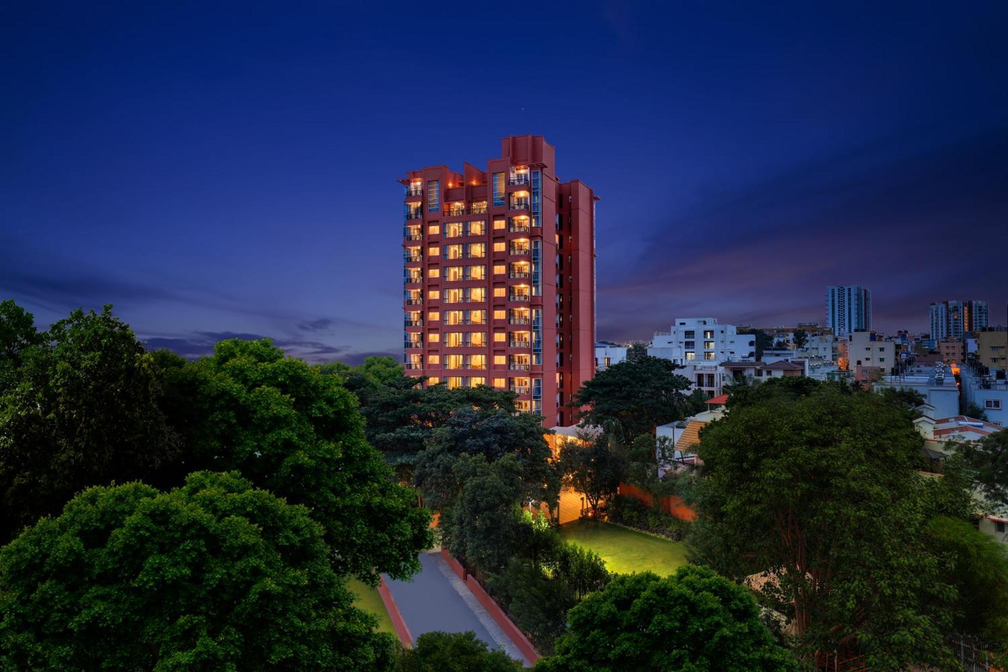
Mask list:
[[[166,372],[169,417],[182,431],[181,470],[236,469],[302,503],[323,525],[334,568],[374,582],[407,577],[428,547],[430,517],[392,480],[364,437],[357,400],[339,376],[285,357],[268,340],[227,340]]]

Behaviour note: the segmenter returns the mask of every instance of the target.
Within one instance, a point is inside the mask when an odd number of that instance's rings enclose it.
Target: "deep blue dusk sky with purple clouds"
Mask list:
[[[155,6],[155,5],[159,5]],[[401,353],[406,170],[537,133],[598,336],[1008,304],[1008,3],[6,3],[0,298],[154,346]]]

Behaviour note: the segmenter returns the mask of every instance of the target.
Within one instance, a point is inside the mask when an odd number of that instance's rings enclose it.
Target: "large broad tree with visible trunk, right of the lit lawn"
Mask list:
[[[698,447],[697,560],[765,572],[761,590],[808,651],[864,653],[873,669],[947,664],[955,590],[926,539],[939,497],[914,472],[920,446],[905,412],[871,393],[755,393]]]

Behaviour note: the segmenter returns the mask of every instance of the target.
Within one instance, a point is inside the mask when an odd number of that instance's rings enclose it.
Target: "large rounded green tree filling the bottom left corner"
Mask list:
[[[0,550],[0,650],[24,670],[388,669],[327,555],[304,508],[234,473],[93,487]]]

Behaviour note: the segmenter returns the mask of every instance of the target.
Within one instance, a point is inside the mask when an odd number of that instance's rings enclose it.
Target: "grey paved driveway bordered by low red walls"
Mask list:
[[[452,571],[440,553],[420,554],[421,569],[411,581],[385,577],[413,641],[423,633],[473,631],[491,649],[501,649],[520,661],[524,657],[501,631],[473,593]],[[527,663],[526,663],[527,666]]]

